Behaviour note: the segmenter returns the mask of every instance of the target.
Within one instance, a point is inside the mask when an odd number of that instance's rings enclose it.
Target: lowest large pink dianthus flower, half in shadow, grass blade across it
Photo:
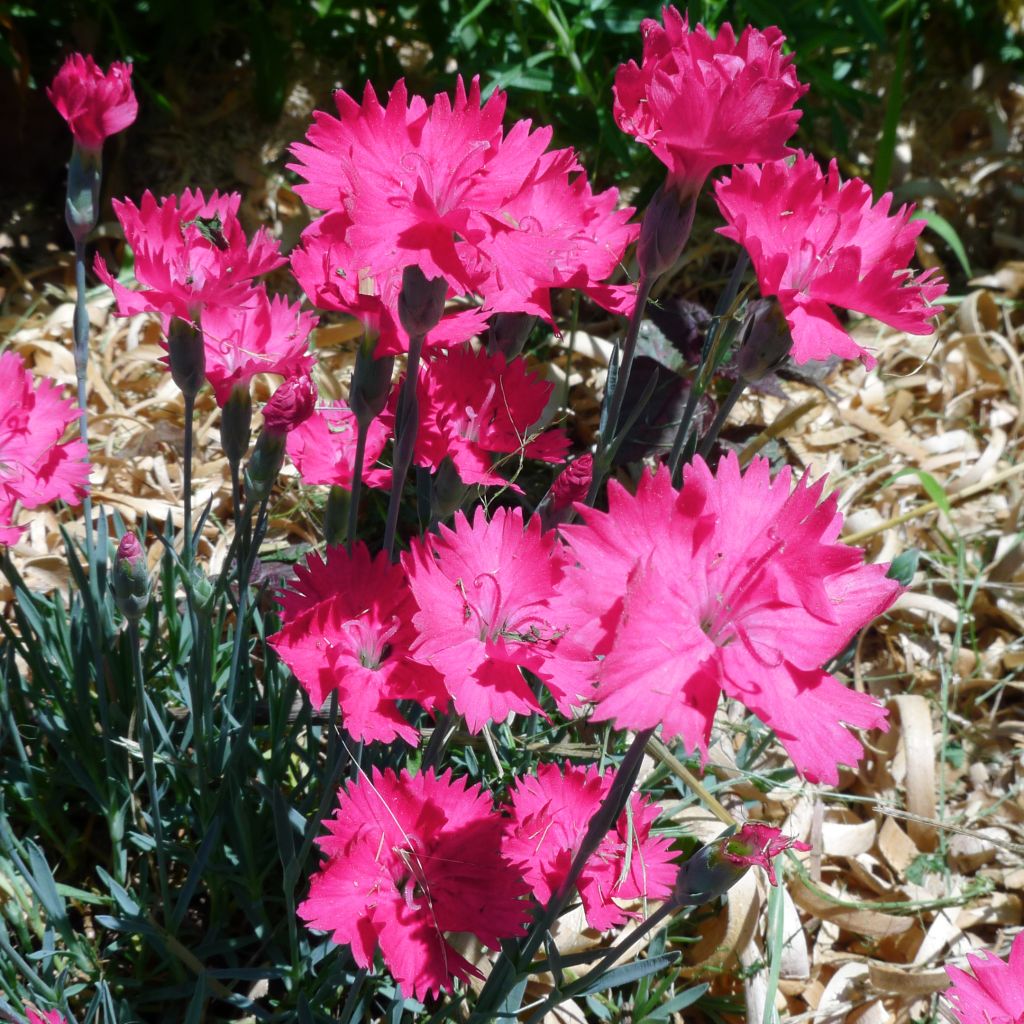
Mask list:
[[[328,860],[299,915],[350,946],[361,968],[380,948],[406,996],[480,977],[446,933],[469,932],[492,949],[522,934],[526,887],[502,856],[504,821],[478,785],[432,769],[374,769],[339,793],[324,824]]]

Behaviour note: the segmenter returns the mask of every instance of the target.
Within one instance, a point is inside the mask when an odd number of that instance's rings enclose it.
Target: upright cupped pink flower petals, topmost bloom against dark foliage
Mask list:
[[[675,7],[663,28],[645,20],[643,63],[615,75],[615,120],[669,168],[683,195],[695,196],[722,164],[778,160],[797,130],[794,104],[807,91],[778,29],[748,27],[737,40],[726,24],[712,39]]]

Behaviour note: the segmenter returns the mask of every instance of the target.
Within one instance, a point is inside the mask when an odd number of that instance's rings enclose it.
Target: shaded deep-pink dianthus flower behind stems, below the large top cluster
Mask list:
[[[561,462],[568,440],[559,430],[535,435],[553,385],[526,370],[521,357],[474,352],[468,345],[435,355],[419,381],[420,429],[414,461],[437,469],[447,456],[464,483],[504,486],[496,455]],[[394,422],[394,403],[383,417]]]

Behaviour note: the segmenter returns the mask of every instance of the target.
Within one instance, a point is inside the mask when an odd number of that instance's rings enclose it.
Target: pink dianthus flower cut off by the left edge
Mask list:
[[[77,505],[89,484],[88,450],[61,442],[78,408],[49,381],[36,381],[14,352],[0,355],[0,544],[25,531],[14,505],[38,508],[56,499]]]

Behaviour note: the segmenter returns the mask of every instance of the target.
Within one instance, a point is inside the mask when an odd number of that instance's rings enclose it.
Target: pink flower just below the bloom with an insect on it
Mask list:
[[[223,407],[234,387],[249,388],[257,374],[296,377],[316,362],[306,339],[313,313],[300,312],[283,295],[257,288],[244,304],[208,306],[203,311],[206,379]]]

